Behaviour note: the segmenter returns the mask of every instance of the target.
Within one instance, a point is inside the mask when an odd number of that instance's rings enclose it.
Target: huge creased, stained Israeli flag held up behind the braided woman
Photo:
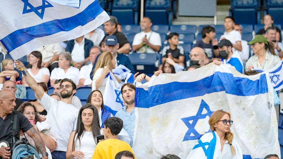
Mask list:
[[[187,158],[200,137],[211,132],[208,120],[216,110],[231,113],[231,131],[244,159],[280,155],[267,72],[246,76],[229,65],[208,64],[192,71],[154,75],[136,87],[133,150],[137,158],[163,154]],[[200,146],[207,151],[207,145]]]

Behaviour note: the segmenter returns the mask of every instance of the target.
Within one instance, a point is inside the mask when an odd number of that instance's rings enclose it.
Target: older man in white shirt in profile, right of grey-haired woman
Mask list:
[[[83,66],[79,71],[79,87],[91,85],[92,80],[90,79],[90,72],[97,55],[100,53],[102,53],[102,50],[99,47],[94,46],[90,49],[90,64]]]

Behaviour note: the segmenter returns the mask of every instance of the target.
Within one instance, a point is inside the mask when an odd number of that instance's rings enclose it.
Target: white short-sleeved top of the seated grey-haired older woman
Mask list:
[[[67,72],[64,72],[64,69],[61,67],[54,68],[50,75],[50,80],[53,79],[63,79],[63,78],[69,78],[71,79],[76,85],[79,84],[79,69],[71,66]]]

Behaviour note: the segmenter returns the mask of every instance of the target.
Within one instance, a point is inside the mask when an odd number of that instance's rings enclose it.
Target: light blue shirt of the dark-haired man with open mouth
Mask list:
[[[131,138],[130,145],[133,147],[133,138],[134,138],[134,127],[135,127],[135,108],[133,109],[132,113],[130,114],[127,110],[127,106],[124,106],[122,110],[119,110],[115,117],[120,118],[123,120],[123,128],[127,131]]]

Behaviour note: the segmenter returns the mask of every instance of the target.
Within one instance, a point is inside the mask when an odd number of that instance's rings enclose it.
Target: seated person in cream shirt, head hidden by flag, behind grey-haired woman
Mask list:
[[[49,72],[52,72],[54,68],[58,68],[58,58],[59,53],[63,51],[63,48],[60,43],[53,43],[45,45],[36,49],[42,55],[41,67],[49,69]]]

